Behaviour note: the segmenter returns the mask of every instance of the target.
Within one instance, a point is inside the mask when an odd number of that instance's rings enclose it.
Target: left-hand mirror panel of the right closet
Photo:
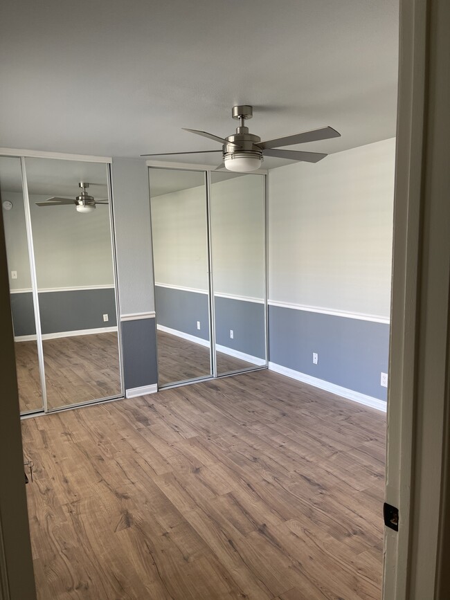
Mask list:
[[[150,167],[159,385],[210,376],[205,174]]]

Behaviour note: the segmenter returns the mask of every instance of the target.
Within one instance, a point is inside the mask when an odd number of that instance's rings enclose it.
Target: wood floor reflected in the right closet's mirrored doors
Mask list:
[[[208,347],[168,334],[167,331],[158,330],[157,336],[159,385],[210,375]],[[239,371],[249,367],[254,368],[255,365],[223,352],[217,352],[219,373]]]

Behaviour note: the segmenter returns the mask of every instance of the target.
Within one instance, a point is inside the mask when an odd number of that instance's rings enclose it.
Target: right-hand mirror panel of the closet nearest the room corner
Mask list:
[[[217,374],[266,365],[264,176],[211,173]]]

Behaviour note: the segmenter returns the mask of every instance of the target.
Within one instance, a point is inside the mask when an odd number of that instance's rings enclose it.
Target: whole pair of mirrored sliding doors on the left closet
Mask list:
[[[109,165],[0,157],[21,412],[123,395]]]

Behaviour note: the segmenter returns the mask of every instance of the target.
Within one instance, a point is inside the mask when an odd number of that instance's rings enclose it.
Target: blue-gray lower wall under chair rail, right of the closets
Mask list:
[[[269,306],[271,363],[386,401],[388,356],[386,323]]]

